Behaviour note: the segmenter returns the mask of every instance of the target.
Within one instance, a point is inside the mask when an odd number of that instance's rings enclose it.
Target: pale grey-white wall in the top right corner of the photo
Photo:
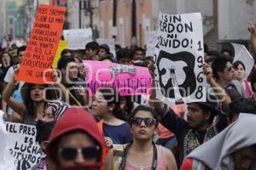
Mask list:
[[[252,2],[246,3],[246,2]],[[249,39],[247,22],[256,23],[256,2],[244,0],[218,1],[218,39]]]

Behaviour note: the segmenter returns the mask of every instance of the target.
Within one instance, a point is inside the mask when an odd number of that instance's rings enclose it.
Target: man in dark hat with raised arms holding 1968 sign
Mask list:
[[[227,117],[220,114],[218,101],[221,101],[223,105],[229,105],[230,99],[212,78],[211,67],[204,64],[203,69],[204,73],[207,75],[207,82],[213,88],[213,92],[216,93],[216,96],[208,90],[206,102],[189,103],[188,122],[178,117],[174,111],[162,101],[155,99],[154,90],[150,96],[149,103],[160,115],[160,123],[172,131],[177,138],[179,155],[178,166],[181,165],[184,156],[187,156],[200,144],[207,142],[207,140],[221,132],[228,124]],[[151,75],[154,77],[152,73]],[[218,122],[212,124],[215,116],[218,116]]]

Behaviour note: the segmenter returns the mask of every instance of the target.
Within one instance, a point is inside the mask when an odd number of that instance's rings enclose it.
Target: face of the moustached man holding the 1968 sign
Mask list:
[[[189,127],[200,129],[207,123],[207,116],[204,114],[203,110],[199,105],[191,103],[188,105],[188,123]],[[205,130],[205,129],[201,129]]]

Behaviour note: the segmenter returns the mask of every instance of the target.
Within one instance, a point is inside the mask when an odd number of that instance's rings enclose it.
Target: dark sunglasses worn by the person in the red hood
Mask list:
[[[71,147],[61,147],[59,148],[61,157],[67,161],[72,161],[76,158],[78,153],[83,155],[84,160],[94,159],[100,156],[99,146],[89,146],[84,148],[71,148]]]

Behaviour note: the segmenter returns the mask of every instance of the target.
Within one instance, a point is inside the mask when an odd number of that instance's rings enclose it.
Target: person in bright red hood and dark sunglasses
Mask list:
[[[83,109],[69,108],[49,137],[49,169],[102,169],[102,145],[102,134],[94,118]]]

